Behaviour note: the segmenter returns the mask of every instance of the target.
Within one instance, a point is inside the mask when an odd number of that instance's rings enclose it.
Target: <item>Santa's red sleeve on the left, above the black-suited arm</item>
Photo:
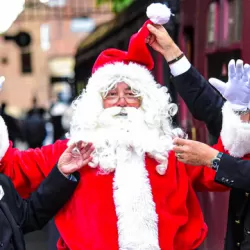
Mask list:
[[[12,180],[22,197],[28,197],[56,165],[67,147],[67,140],[58,140],[42,148],[20,151],[12,143],[1,160],[0,172]]]

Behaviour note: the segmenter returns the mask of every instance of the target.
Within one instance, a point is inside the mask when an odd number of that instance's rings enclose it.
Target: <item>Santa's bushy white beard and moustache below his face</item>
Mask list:
[[[120,115],[123,111],[125,116]],[[127,161],[134,154],[144,159],[148,153],[160,163],[158,173],[164,174],[168,152],[172,149],[172,128],[169,124],[169,133],[166,133],[166,124],[164,132],[157,124],[147,125],[141,109],[108,108],[99,116],[95,128],[71,130],[69,144],[79,140],[92,142],[95,150],[89,165],[99,166],[103,173],[114,171],[120,159]]]

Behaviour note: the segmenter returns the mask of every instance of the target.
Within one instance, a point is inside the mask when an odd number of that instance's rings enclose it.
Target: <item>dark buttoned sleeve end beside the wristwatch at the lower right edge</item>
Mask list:
[[[250,192],[250,161],[223,154],[215,181]]]

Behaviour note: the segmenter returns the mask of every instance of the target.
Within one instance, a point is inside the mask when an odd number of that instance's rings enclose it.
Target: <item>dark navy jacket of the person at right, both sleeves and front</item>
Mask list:
[[[204,121],[210,134],[218,138],[222,127],[223,97],[193,67],[172,81],[192,115]],[[250,161],[224,154],[215,180],[233,188],[229,199],[225,250],[249,250]]]

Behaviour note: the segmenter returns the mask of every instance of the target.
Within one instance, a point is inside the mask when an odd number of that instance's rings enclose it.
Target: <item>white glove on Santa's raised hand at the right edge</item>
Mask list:
[[[228,64],[228,82],[216,78],[209,82],[231,103],[235,111],[246,111],[250,107],[250,65],[242,60],[231,60]]]

